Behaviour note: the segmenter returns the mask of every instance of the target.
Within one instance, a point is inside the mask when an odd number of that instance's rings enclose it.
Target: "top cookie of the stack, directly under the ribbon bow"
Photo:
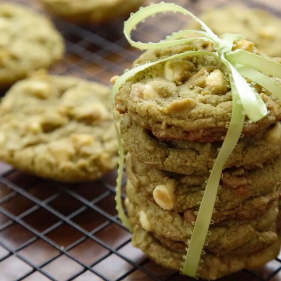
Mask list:
[[[135,65],[193,49],[214,51],[212,44],[198,41],[147,51]],[[246,40],[237,42],[237,46],[249,52],[256,50]],[[227,132],[232,112],[228,76],[229,71],[214,56],[171,59],[128,79],[116,94],[116,109],[127,112],[158,139],[219,141]],[[259,85],[255,89],[267,104],[269,114],[253,123],[246,117],[245,136],[256,135],[281,119],[281,101],[270,92],[263,92]]]

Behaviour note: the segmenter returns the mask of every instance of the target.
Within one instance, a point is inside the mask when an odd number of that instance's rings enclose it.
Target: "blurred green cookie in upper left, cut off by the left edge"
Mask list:
[[[0,4],[0,87],[48,68],[63,53],[63,39],[47,18],[20,5]]]

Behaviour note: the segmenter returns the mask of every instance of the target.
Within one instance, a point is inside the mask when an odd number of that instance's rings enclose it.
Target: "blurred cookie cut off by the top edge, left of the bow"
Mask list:
[[[54,15],[77,23],[104,23],[128,16],[143,0],[41,0]]]

